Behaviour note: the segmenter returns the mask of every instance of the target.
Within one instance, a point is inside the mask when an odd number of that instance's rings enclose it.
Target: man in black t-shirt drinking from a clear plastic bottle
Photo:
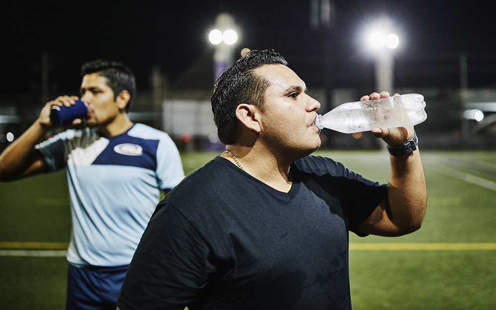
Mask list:
[[[245,54],[211,101],[227,150],[159,203],[117,306],[350,310],[349,232],[400,236],[424,219],[420,154],[405,143],[413,126],[372,129],[395,147],[381,185],[310,155],[320,104],[273,50]]]

